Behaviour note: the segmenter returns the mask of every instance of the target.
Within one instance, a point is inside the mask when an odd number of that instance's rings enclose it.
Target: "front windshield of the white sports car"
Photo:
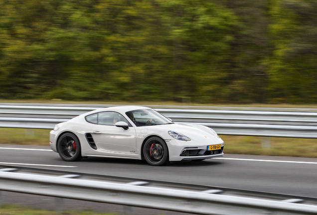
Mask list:
[[[137,109],[126,112],[137,126],[172,124],[173,122],[153,109]]]

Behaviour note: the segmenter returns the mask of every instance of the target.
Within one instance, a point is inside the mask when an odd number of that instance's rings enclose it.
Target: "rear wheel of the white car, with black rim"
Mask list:
[[[79,139],[70,132],[60,136],[57,142],[57,150],[64,161],[78,161],[82,158]]]

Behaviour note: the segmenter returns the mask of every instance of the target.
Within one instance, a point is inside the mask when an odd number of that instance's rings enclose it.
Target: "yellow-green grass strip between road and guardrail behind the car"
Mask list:
[[[46,129],[0,128],[0,144],[49,146]],[[227,154],[317,158],[317,139],[267,137],[270,148],[262,148],[263,137],[220,135]]]

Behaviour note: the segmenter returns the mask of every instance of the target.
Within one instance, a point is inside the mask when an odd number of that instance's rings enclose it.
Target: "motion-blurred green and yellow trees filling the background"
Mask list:
[[[317,0],[0,0],[0,99],[316,103]]]

